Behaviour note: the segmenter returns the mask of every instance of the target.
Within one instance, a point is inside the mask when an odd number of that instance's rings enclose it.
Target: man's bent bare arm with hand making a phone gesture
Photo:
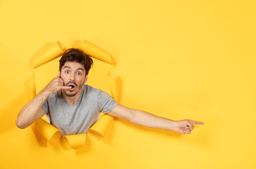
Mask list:
[[[47,98],[61,89],[70,89],[70,86],[64,86],[59,72],[58,76],[54,78],[49,84],[36,95],[30,102],[27,103],[19,112],[16,119],[16,125],[20,129],[29,127],[38,118],[44,116],[45,111],[41,108]]]

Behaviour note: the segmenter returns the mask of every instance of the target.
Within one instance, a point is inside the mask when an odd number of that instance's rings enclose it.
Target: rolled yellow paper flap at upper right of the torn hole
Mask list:
[[[81,50],[85,54],[90,55],[92,58],[95,58],[113,65],[110,54],[106,50],[102,49],[101,47],[98,47],[97,45],[89,42],[88,40],[83,40],[81,44]]]

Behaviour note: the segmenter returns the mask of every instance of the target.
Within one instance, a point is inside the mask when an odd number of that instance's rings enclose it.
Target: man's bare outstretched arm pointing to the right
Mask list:
[[[108,115],[115,116],[128,120],[137,125],[142,125],[145,127],[152,127],[158,129],[166,129],[171,131],[176,131],[178,133],[190,134],[194,129],[193,125],[203,125],[203,122],[198,122],[195,120],[180,120],[174,121],[167,118],[162,118],[155,116],[151,113],[145,111],[130,109],[118,104],[112,111],[108,112]]]

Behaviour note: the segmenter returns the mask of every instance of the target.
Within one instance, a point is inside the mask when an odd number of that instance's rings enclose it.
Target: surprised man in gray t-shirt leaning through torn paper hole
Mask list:
[[[24,129],[45,114],[62,135],[86,133],[98,120],[99,113],[108,113],[132,123],[190,134],[194,120],[173,121],[145,111],[118,104],[108,93],[84,83],[92,59],[80,49],[68,49],[61,57],[59,74],[19,112],[16,125]]]

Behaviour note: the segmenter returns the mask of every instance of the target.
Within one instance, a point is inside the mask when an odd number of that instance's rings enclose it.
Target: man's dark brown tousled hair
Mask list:
[[[93,64],[92,58],[90,58],[89,55],[83,53],[83,51],[78,48],[70,48],[64,52],[63,56],[61,57],[61,60],[59,60],[60,71],[61,71],[61,68],[64,66],[65,62],[67,61],[78,62],[83,64],[85,68],[85,76],[88,75],[89,70],[91,69],[91,66]]]

